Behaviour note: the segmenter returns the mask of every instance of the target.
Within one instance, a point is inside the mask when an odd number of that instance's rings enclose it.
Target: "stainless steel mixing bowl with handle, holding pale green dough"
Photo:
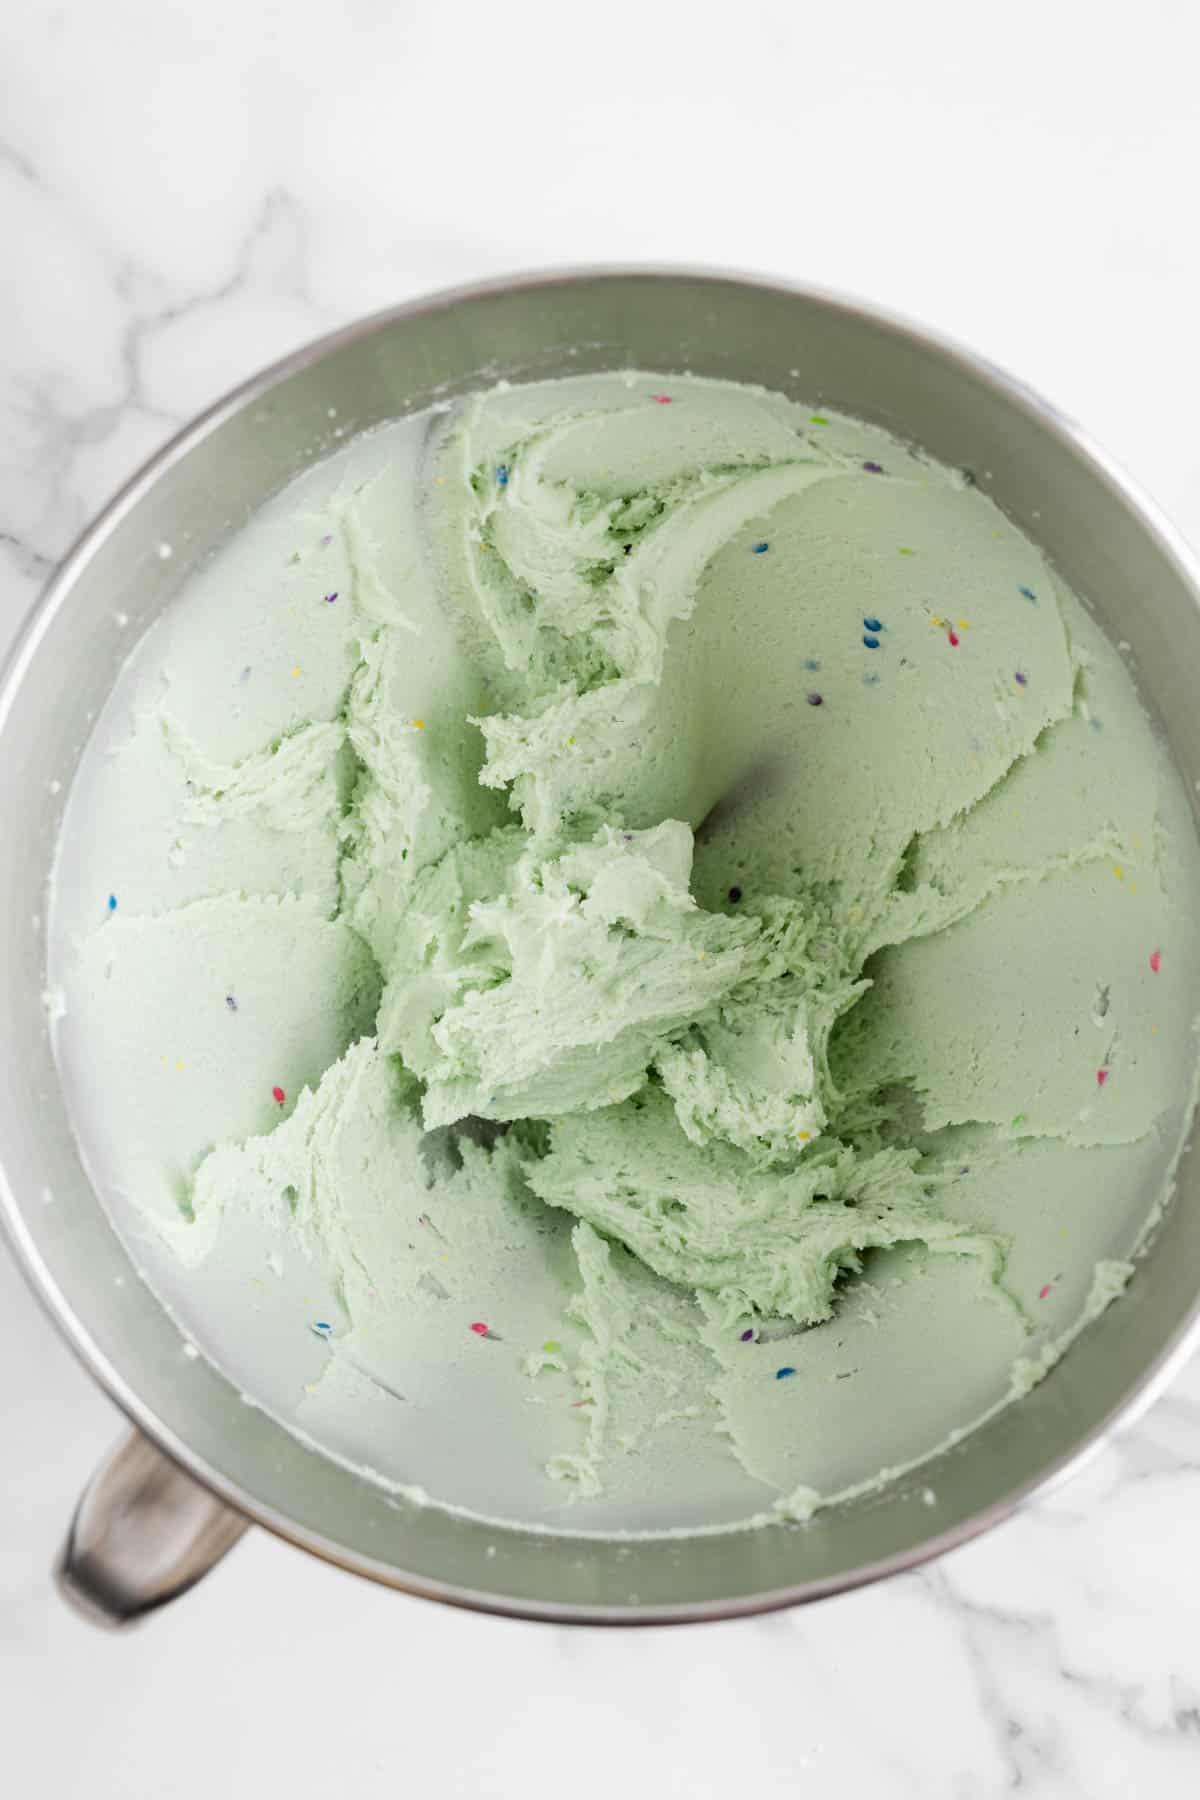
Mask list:
[[[613,1543],[500,1530],[398,1503],[243,1404],[140,1282],[72,1139],[43,990],[59,796],[133,635],[313,457],[489,383],[637,365],[761,382],[970,466],[1112,635],[1184,776],[1200,772],[1200,574],[1153,506],[1020,383],[828,293],[696,272],[538,275],[435,295],[299,351],[230,394],[106,508],[50,581],[0,691],[0,1201],[32,1285],[137,1433],[72,1526],[63,1582],[122,1622],[178,1593],[248,1519],[414,1593],[527,1618],[720,1618],[910,1568],[1006,1517],[1144,1406],[1200,1334],[1200,1175],[1135,1280],[1020,1406],[804,1526]],[[336,412],[336,427],[331,419]],[[175,554],[160,558],[169,542]],[[117,630],[113,616],[130,616]],[[47,1199],[50,1201],[47,1204]],[[925,1490],[936,1494],[928,1505]]]

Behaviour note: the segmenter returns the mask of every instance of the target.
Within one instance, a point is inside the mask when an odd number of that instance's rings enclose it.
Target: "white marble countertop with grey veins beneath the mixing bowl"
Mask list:
[[[356,313],[549,263],[739,265],[907,310],[1085,419],[1200,538],[1198,52],[1171,0],[13,0],[0,644],[232,382]],[[806,1611],[520,1625],[257,1532],[113,1640],[47,1568],[115,1413],[2,1255],[0,1318],[13,1793],[1200,1791],[1200,1363],[1018,1521]]]

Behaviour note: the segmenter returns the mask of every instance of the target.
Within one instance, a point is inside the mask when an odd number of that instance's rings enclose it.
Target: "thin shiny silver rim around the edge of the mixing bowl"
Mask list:
[[[1103,450],[1076,419],[1063,414],[1040,392],[1027,387],[1018,376],[1009,374],[999,364],[966,347],[955,337],[919,324],[907,313],[889,306],[880,306],[855,295],[822,286],[819,283],[792,281],[766,272],[730,270],[723,266],[687,265],[687,263],[599,263],[567,265],[551,268],[522,270],[509,275],[497,275],[486,281],[462,283],[439,288],[432,293],[403,301],[371,311],[345,326],[326,331],[308,340],[286,356],[277,358],[255,374],[228,389],[221,398],[205,407],[196,418],[175,432],[130,475],[88,526],[76,536],[74,544],[45,581],[41,594],[31,607],[18,630],[4,662],[0,664],[0,733],[5,729],[18,688],[36,657],[43,637],[59,612],[68,605],[72,589],[112,533],[137,508],[142,497],[182,461],[196,445],[218,430],[228,418],[245,407],[263,400],[293,374],[324,360],[331,353],[385,331],[401,320],[414,320],[435,313],[450,311],[462,302],[480,301],[493,295],[542,295],[560,286],[579,286],[592,283],[694,283],[700,286],[734,286],[756,293],[775,293],[784,299],[799,299],[817,304],[831,313],[864,326],[882,328],[894,338],[909,342],[932,353],[943,364],[950,364],[975,383],[990,387],[1009,405],[1022,410],[1042,432],[1058,439],[1060,445],[1078,461],[1088,464],[1115,495],[1124,500],[1137,527],[1148,535],[1180,583],[1191,590],[1200,607],[1200,554],[1195,553],[1178,527],[1168,518],[1162,508],[1146,490]],[[99,1204],[99,1202],[97,1202]],[[49,1264],[45,1262],[16,1193],[9,1183],[7,1168],[0,1157],[0,1229],[11,1246],[16,1267],[25,1276],[34,1296],[68,1343],[76,1357],[99,1382],[110,1400],[124,1417],[142,1431],[173,1463],[185,1474],[216,1494],[234,1512],[255,1525],[264,1526],[273,1535],[308,1550],[326,1562],[333,1562],[351,1573],[363,1575],[383,1586],[396,1588],[428,1600],[482,1611],[509,1618],[540,1620],[547,1624],[583,1624],[583,1625],[655,1625],[655,1624],[696,1624],[703,1620],[741,1618],[756,1613],[777,1611],[835,1593],[847,1593],[903,1570],[914,1570],[936,1557],[955,1550],[972,1539],[1013,1517],[1034,1498],[1056,1489],[1061,1481],[1078,1472],[1096,1456],[1117,1427],[1133,1424],[1175,1379],[1178,1370],[1200,1348],[1200,1282],[1196,1298],[1187,1316],[1178,1323],[1162,1350],[1133,1379],[1128,1391],[1110,1411],[1085,1431],[1070,1449],[1045,1463],[1036,1474],[1016,1483],[1007,1494],[970,1514],[946,1530],[921,1539],[918,1544],[894,1552],[887,1557],[864,1562],[858,1568],[837,1575],[770,1588],[756,1593],[738,1595],[721,1600],[678,1602],[678,1604],[626,1604],[592,1606],[576,1602],[547,1602],[509,1598],[477,1588],[459,1586],[425,1575],[408,1575],[390,1562],[351,1550],[324,1534],[295,1523],[279,1508],[257,1499],[237,1481],[214,1469],[200,1453],[182,1438],[171,1426],[158,1418],[153,1408],[142,1400],[131,1379],[128,1379],[112,1359],[99,1348],[92,1334],[67,1301]],[[275,1422],[277,1424],[277,1422]],[[279,1426],[279,1429],[286,1429]],[[482,1523],[482,1521],[480,1521]],[[498,1523],[489,1525],[500,1530]],[[743,1526],[730,1526],[741,1530]],[[587,1537],[576,1543],[583,1548]]]

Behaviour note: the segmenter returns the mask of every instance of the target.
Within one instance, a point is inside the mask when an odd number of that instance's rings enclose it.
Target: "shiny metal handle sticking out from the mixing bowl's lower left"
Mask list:
[[[248,1519],[131,1431],[92,1476],[54,1577],[94,1625],[131,1625],[193,1588]]]

